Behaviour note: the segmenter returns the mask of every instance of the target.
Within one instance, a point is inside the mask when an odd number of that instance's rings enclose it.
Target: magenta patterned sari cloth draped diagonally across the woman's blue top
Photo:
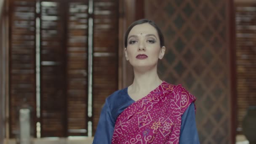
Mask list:
[[[117,117],[112,144],[179,144],[181,116],[195,100],[181,85],[163,82]]]

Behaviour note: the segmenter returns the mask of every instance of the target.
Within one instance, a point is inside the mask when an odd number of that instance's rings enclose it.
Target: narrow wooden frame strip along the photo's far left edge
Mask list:
[[[9,138],[9,81],[8,81],[8,64],[9,64],[9,17],[8,17],[9,0],[3,0],[0,3],[0,144],[4,143],[5,138]]]

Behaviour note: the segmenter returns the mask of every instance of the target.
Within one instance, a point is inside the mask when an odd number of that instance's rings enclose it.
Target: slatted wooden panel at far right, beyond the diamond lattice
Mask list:
[[[256,5],[236,4],[237,58],[237,121],[242,128],[243,118],[250,105],[256,105]],[[238,131],[239,134],[242,131]]]

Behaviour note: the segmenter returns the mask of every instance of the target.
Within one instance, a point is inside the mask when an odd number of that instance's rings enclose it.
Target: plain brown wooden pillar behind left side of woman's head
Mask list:
[[[133,83],[133,68],[124,56],[124,35],[129,25],[144,18],[144,0],[121,0],[119,18],[119,85],[128,87]]]

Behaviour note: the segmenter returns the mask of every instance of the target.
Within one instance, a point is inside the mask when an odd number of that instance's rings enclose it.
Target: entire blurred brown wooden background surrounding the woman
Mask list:
[[[90,144],[142,18],[165,36],[160,77],[197,97],[201,144],[254,144],[256,0],[0,0],[0,144]]]

